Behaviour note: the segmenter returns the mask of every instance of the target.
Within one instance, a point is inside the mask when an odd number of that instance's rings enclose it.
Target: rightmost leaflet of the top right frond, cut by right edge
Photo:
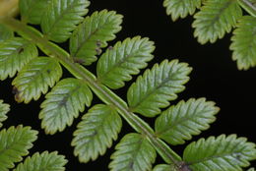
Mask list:
[[[256,66],[256,18],[244,16],[237,24],[231,37],[232,59],[239,70]]]

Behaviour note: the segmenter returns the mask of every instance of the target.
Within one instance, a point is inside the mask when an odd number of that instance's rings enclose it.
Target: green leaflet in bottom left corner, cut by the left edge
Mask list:
[[[0,170],[8,171],[20,162],[23,156],[28,155],[32,142],[37,139],[37,131],[31,127],[18,126],[3,129],[0,132]]]

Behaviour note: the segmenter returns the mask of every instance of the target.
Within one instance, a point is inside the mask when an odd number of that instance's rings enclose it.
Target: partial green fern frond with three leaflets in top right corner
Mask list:
[[[195,14],[192,27],[201,44],[214,43],[234,28],[229,46],[232,59],[239,70],[256,66],[255,0],[164,0],[163,6],[173,21]]]

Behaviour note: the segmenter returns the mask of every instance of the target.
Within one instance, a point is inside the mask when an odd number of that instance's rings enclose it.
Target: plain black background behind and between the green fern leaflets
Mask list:
[[[94,11],[102,9],[114,10],[124,16],[123,29],[117,34],[115,40],[109,42],[109,45],[113,45],[117,40],[123,40],[126,37],[148,36],[155,41],[157,46],[154,52],[155,60],[150,63],[150,67],[154,63],[160,63],[165,58],[169,60],[176,58],[193,67],[191,79],[186,85],[187,88],[179,93],[178,99],[171,104],[175,104],[181,99],[187,100],[190,97],[206,97],[221,107],[221,111],[217,115],[218,120],[211,125],[211,129],[203,132],[201,136],[194,137],[193,141],[200,137],[237,134],[239,137],[247,137],[250,142],[256,142],[254,124],[256,68],[248,71],[237,70],[236,63],[231,60],[231,52],[228,50],[231,34],[226,34],[215,44],[200,45],[193,37],[193,29],[191,28],[193,18],[187,17],[173,23],[170,17],[166,16],[162,1],[94,0],[90,6],[90,15]],[[91,71],[94,71],[94,67],[95,65],[90,67]],[[65,74],[65,77],[67,76],[69,76],[68,73]],[[11,104],[11,112],[8,114],[8,120],[4,122],[4,127],[23,124],[38,130],[40,134],[31,149],[32,153],[43,150],[58,150],[69,160],[66,170],[84,171],[89,167],[93,170],[108,170],[107,165],[113,147],[108,149],[104,156],[87,164],[79,163],[78,158],[73,155],[73,147],[70,146],[70,142],[72,133],[81,117],[75,120],[72,127],[66,128],[65,132],[47,136],[40,129],[40,121],[37,119],[43,96],[30,104],[18,104],[12,94],[11,82],[12,80],[8,79],[0,83],[0,99]],[[126,90],[129,85],[131,83],[117,90],[116,93],[126,99]],[[95,96],[93,105],[99,102]],[[154,120],[147,120],[152,125],[154,124]],[[126,133],[133,132],[125,121],[123,125],[118,141]],[[184,146],[172,146],[172,148],[181,155]],[[160,157],[158,157],[157,162],[161,162]]]

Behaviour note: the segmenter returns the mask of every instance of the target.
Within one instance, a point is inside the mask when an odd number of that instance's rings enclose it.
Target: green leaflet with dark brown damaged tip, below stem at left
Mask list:
[[[15,99],[29,103],[48,91],[62,76],[59,63],[49,57],[38,57],[26,65],[13,81]]]

